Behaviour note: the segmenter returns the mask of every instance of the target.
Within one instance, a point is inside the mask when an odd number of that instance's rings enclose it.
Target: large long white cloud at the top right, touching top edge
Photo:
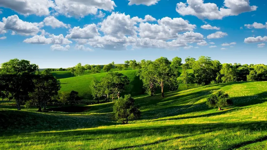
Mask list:
[[[214,3],[204,3],[204,0],[187,0],[177,3],[176,11],[180,15],[194,15],[199,19],[222,19],[226,16],[237,16],[243,12],[255,11],[257,6],[250,6],[249,0],[224,0],[224,6]]]

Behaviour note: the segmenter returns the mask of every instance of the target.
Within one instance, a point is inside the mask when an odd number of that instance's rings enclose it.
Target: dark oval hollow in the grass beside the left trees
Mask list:
[[[70,112],[70,113],[78,113],[89,110],[89,107],[86,106],[67,106],[67,107],[55,107],[49,108],[47,111],[61,111],[61,112]]]

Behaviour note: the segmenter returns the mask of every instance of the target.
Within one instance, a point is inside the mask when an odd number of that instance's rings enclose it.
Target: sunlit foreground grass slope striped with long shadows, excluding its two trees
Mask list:
[[[220,89],[234,106],[208,108],[207,96]],[[0,132],[0,149],[267,149],[267,82],[208,85],[136,103],[142,118],[128,125],[113,120],[113,103],[83,113],[2,109],[8,132]]]

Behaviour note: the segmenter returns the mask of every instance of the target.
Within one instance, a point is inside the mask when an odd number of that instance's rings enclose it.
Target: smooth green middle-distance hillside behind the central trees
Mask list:
[[[139,77],[136,76],[136,70],[126,70],[126,71],[118,71],[130,79],[130,84],[126,86],[126,92],[123,93],[130,93],[132,95],[138,95],[142,93],[142,81]],[[100,74],[90,74],[85,76],[77,76],[72,78],[65,78],[60,79],[61,82],[61,90],[60,92],[71,92],[75,90],[79,92],[79,95],[83,98],[92,99],[91,97],[91,83],[92,80],[95,78],[100,80],[107,73],[100,73]]]

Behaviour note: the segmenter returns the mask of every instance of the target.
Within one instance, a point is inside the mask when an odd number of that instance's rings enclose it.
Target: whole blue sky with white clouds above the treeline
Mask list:
[[[178,56],[267,64],[265,0],[1,0],[0,63],[39,68]]]

